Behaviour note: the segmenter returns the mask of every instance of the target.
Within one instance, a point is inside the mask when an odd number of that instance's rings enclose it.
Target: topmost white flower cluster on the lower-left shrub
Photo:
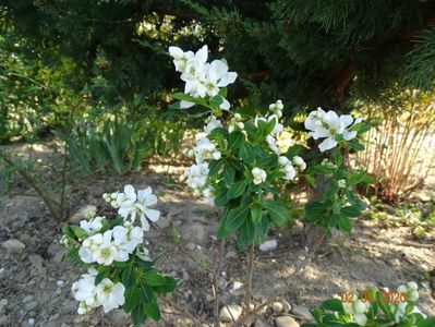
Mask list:
[[[156,222],[160,217],[158,210],[149,208],[157,204],[157,196],[153,194],[153,190],[149,186],[137,191],[136,194],[132,185],[125,185],[123,193],[104,194],[102,198],[118,209],[118,214],[124,218],[124,221],[130,220],[133,223],[138,217],[144,231],[149,230],[148,219]]]

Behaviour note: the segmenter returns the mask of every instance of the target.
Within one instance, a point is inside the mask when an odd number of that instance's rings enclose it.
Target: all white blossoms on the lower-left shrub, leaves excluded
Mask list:
[[[104,231],[108,225],[106,217],[95,217],[95,213],[86,214],[86,220],[80,222],[80,227],[86,232],[78,249],[78,256],[85,264],[98,264],[110,266],[113,262],[126,262],[135,252],[143,259],[149,259],[148,251],[140,247],[144,243],[144,231],[149,230],[149,222],[157,221],[160,213],[149,209],[157,203],[153,190],[147,187],[135,192],[132,185],[125,185],[124,192],[104,194],[106,202],[110,203],[123,218],[123,225]],[[134,226],[135,218],[140,217],[142,227]],[[62,238],[65,245],[68,239]],[[72,292],[75,300],[80,301],[78,314],[85,314],[89,310],[102,305],[105,312],[117,308],[124,303],[124,286],[121,282],[113,283],[105,278],[95,286],[97,270],[89,269],[81,279],[73,283]]]

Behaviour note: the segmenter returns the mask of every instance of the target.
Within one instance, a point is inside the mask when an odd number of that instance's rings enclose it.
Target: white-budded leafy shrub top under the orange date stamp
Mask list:
[[[351,296],[324,301],[312,311],[316,324],[302,326],[435,326],[435,317],[427,317],[415,305],[419,291],[413,281],[399,286],[397,292],[368,288],[359,295],[347,294]]]

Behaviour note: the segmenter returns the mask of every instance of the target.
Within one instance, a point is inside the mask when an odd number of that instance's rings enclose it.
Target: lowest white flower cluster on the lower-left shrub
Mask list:
[[[80,301],[77,310],[80,315],[100,305],[108,313],[124,304],[124,286],[121,282],[113,283],[109,278],[102,279],[98,286],[95,286],[96,276],[97,270],[89,269],[72,286],[73,296]]]

